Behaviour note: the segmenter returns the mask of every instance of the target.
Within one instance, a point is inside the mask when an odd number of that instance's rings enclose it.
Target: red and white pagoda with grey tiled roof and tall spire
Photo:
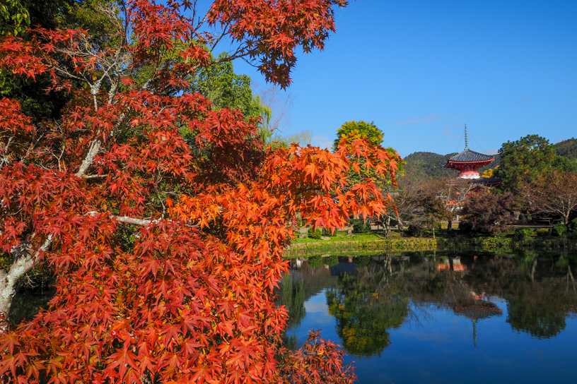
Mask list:
[[[447,164],[445,164],[445,168],[457,169],[461,172],[457,179],[451,181],[452,184],[474,184],[474,186],[477,186],[476,189],[489,188],[498,186],[503,179],[481,177],[477,169],[491,164],[494,160],[494,156],[484,155],[469,149],[469,136],[467,136],[467,125],[465,125],[465,150],[450,157]]]

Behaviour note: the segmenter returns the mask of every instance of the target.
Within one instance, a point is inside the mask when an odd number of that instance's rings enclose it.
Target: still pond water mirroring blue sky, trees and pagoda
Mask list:
[[[342,345],[359,383],[577,383],[577,256],[291,260],[289,344]]]

